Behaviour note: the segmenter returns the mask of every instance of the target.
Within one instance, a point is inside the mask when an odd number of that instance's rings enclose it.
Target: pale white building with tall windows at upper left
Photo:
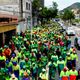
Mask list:
[[[23,20],[17,27],[17,32],[25,31],[32,27],[32,0],[23,1]],[[16,15],[21,19],[20,0],[0,0],[0,13]]]

